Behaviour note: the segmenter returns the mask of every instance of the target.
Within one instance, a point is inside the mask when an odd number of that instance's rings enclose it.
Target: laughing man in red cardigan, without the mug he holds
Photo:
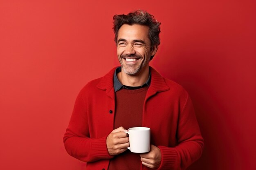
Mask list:
[[[64,135],[67,152],[87,170],[183,170],[202,154],[203,139],[187,92],[149,66],[160,23],[146,11],[114,16],[121,67],[79,93]],[[124,132],[151,129],[150,151],[127,150]]]

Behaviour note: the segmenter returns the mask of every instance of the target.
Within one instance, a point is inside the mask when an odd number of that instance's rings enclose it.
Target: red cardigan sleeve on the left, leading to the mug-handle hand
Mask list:
[[[76,159],[85,162],[110,159],[106,146],[106,138],[91,138],[86,113],[86,99],[80,92],[76,98],[74,110],[70,118],[63,142],[67,153]]]

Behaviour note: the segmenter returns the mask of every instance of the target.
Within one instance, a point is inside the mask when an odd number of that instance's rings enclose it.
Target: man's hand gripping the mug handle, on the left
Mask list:
[[[123,127],[113,130],[107,137],[107,148],[110,155],[118,155],[129,147],[128,134]]]

